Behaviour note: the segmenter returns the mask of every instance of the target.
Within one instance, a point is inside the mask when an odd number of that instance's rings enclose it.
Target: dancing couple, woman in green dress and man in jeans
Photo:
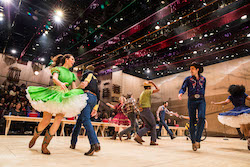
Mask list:
[[[81,127],[83,123],[91,144],[90,150],[85,155],[93,155],[94,152],[100,150],[99,141],[90,121],[90,115],[97,112],[99,101],[97,79],[93,74],[94,67],[87,67],[82,82],[77,87],[75,83],[77,77],[69,70],[74,63],[75,59],[71,54],[55,56],[50,66],[55,86],[47,88],[30,86],[27,88],[27,98],[32,107],[39,112],[43,112],[43,119],[34,130],[29,148],[35,145],[38,137],[50,124],[52,116],[55,116],[52,126],[45,133],[41,148],[43,154],[50,154],[47,147],[57,132],[62,119],[80,114],[74,127],[71,148],[75,147],[79,126]],[[71,90],[69,90],[69,86],[72,87]]]

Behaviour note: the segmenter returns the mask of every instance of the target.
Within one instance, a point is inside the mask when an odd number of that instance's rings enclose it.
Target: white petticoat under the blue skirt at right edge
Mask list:
[[[218,120],[224,125],[231,126],[233,128],[240,128],[240,125],[250,123],[250,114],[245,113],[238,116],[218,115]]]

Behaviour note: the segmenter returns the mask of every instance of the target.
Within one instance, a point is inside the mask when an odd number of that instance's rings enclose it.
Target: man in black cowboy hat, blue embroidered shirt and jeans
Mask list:
[[[196,62],[190,65],[191,76],[187,77],[179,91],[178,98],[182,100],[182,95],[188,88],[188,113],[190,117],[190,135],[192,148],[194,151],[200,148],[201,135],[205,124],[206,101],[205,88],[206,78],[201,75],[203,67]],[[196,112],[198,110],[198,123]],[[195,127],[197,124],[197,127]]]

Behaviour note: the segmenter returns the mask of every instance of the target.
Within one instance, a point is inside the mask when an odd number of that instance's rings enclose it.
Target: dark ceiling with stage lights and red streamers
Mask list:
[[[99,74],[122,69],[154,79],[186,71],[192,61],[206,66],[249,55],[246,0],[0,2],[0,52],[22,61],[47,64],[71,53],[77,67],[94,64]]]

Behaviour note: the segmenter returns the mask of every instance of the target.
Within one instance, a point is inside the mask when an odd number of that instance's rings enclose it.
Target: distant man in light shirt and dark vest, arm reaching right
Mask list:
[[[156,118],[157,118],[157,121],[159,121],[159,129],[158,129],[158,133],[157,133],[157,139],[160,139],[159,135],[161,133],[162,126],[164,126],[164,128],[168,132],[170,138],[173,140],[176,137],[173,135],[173,132],[168,128],[168,125],[165,122],[165,115],[166,114],[175,115],[176,117],[178,117],[179,115],[177,113],[173,113],[172,111],[169,111],[167,109],[167,106],[168,106],[168,102],[167,101],[163,102],[163,105],[161,105],[158,108],[158,110],[156,111]]]

